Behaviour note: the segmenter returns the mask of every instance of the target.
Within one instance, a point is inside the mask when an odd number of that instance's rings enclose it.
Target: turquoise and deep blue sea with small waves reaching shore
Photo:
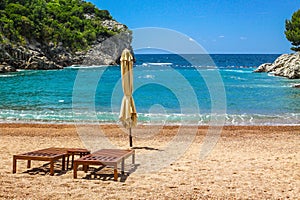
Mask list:
[[[137,54],[140,124],[299,125],[300,90],[252,71],[279,55]],[[120,66],[70,66],[0,75],[0,121],[118,123]]]

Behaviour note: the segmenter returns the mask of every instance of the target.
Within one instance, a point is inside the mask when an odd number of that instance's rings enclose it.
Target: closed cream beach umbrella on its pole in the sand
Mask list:
[[[128,49],[124,49],[121,55],[121,76],[124,97],[121,104],[119,119],[123,126],[129,129],[129,145],[132,147],[131,128],[137,124],[137,114],[134,100],[132,97],[133,90],[133,56]]]

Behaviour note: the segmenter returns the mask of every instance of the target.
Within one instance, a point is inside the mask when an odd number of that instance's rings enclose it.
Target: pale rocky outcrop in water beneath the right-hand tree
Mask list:
[[[300,78],[300,53],[283,54],[274,63],[260,65],[254,72],[268,72],[289,79]]]

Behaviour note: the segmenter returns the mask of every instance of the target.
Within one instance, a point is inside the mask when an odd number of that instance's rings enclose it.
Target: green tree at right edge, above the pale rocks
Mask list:
[[[291,20],[285,21],[285,36],[294,45],[291,49],[300,51],[300,10],[296,11]]]

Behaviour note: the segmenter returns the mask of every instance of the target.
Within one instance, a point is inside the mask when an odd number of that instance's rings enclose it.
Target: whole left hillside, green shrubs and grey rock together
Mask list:
[[[130,43],[126,25],[90,2],[0,2],[0,72],[116,64]]]

